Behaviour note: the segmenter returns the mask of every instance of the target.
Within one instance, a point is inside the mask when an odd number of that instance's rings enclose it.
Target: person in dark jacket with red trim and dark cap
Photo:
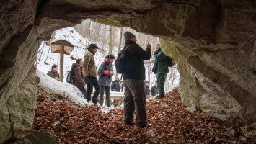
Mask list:
[[[100,106],[103,105],[104,91],[106,94],[106,103],[107,107],[110,107],[110,84],[112,81],[112,76],[114,75],[112,63],[115,60],[114,55],[107,55],[104,62],[100,65],[99,68],[99,84],[100,84]]]

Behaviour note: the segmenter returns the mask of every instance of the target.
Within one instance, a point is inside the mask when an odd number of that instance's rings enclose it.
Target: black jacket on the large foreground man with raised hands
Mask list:
[[[149,60],[151,57],[150,49],[142,49],[136,42],[128,40],[125,42],[125,68],[126,71],[123,75],[123,80],[144,80],[145,79],[145,67],[143,60]]]

